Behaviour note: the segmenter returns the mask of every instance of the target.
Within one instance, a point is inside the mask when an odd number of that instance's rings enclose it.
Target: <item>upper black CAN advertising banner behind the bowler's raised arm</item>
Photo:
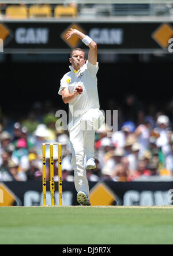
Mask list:
[[[71,27],[89,35],[102,52],[168,53],[173,38],[173,23],[164,22],[2,21],[3,52],[69,53],[74,47],[87,48],[75,36],[69,42],[65,40]]]

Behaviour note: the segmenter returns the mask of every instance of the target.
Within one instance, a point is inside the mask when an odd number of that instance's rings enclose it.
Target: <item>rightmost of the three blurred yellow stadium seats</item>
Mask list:
[[[74,6],[57,5],[54,9],[54,17],[76,17],[77,8]]]

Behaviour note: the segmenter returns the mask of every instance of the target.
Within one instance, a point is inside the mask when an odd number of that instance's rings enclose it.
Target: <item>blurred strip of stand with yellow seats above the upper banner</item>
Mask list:
[[[79,18],[97,18],[97,17],[117,17],[117,16],[172,16],[172,3],[145,3],[145,1],[138,1],[131,3],[116,3],[116,1],[103,1],[93,0],[84,3],[80,0],[61,1],[55,0],[48,1],[35,1],[25,0],[24,3],[12,0],[7,3],[1,0],[0,14],[7,19],[27,19],[35,17],[47,18],[61,18],[61,17],[79,17]]]

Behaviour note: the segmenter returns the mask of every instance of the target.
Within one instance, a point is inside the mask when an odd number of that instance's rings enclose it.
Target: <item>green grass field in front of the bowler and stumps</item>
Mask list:
[[[0,207],[0,244],[172,244],[173,207]]]

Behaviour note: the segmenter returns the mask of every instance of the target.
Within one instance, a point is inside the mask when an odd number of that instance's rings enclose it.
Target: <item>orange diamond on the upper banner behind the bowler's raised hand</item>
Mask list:
[[[66,40],[66,33],[67,31],[70,31],[70,28],[73,28],[73,30],[79,30],[82,33],[84,33],[84,30],[82,30],[82,28],[78,24],[72,24],[69,27],[67,27],[65,31],[62,32],[61,38],[63,39],[63,41],[65,41],[67,45],[69,45],[71,48],[75,48],[77,47],[80,39],[76,35],[73,35],[68,41]]]

